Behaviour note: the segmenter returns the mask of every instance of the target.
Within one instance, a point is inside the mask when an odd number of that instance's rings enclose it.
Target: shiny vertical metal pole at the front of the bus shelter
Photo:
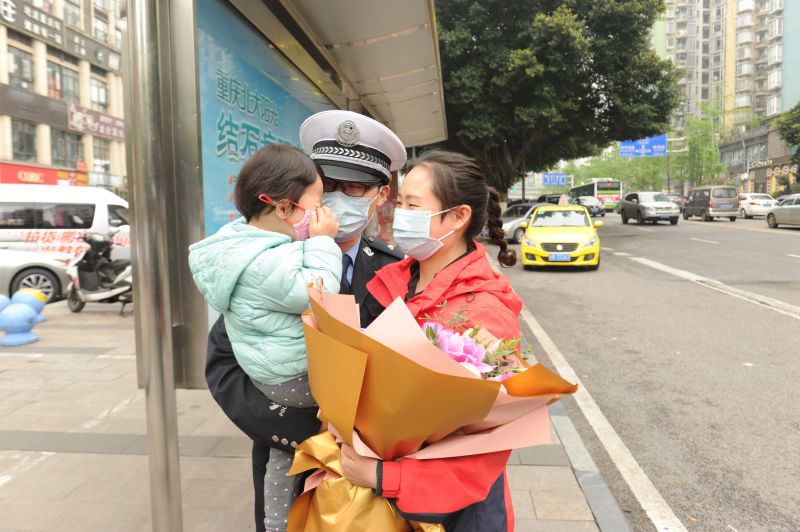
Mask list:
[[[159,4],[162,12],[159,13]],[[144,362],[150,503],[155,532],[180,532],[181,484],[168,257],[170,142],[162,127],[159,21],[167,2],[129,0],[128,175],[132,177],[136,354]],[[166,17],[166,20],[165,20]],[[166,37],[166,36],[165,36]],[[168,65],[165,65],[168,68]]]

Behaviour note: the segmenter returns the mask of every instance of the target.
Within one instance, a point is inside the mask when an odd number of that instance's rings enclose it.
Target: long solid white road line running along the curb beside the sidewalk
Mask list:
[[[591,425],[598,439],[605,447],[614,465],[619,470],[622,478],[630,487],[631,492],[639,501],[642,509],[645,511],[648,519],[653,523],[656,530],[685,531],[686,527],[675,516],[672,509],[667,504],[667,501],[661,496],[656,489],[653,482],[641,468],[639,463],[633,457],[622,438],[619,437],[617,431],[611,426],[611,423],[606,418],[605,414],[600,410],[600,407],[595,402],[594,398],[589,394],[589,391],[583,385],[583,382],[578,378],[575,370],[572,369],[567,359],[561,354],[561,351],[550,339],[550,336],[545,332],[536,318],[528,310],[528,307],[523,305],[520,317],[525,321],[528,327],[531,328],[533,335],[539,341],[539,344],[544,349],[545,354],[550,358],[553,366],[558,373],[570,382],[578,384],[578,391],[572,397],[583,412],[586,420]]]

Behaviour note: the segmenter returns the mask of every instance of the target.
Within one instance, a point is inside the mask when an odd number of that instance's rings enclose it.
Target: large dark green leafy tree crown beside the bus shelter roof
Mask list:
[[[663,0],[439,0],[446,145],[505,191],[524,170],[666,130],[676,72],[649,46]]]

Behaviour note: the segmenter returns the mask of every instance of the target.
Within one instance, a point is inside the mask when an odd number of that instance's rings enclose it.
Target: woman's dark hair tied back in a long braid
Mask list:
[[[489,243],[500,247],[497,260],[503,266],[516,264],[517,254],[508,249],[500,220],[500,195],[486,184],[486,174],[478,162],[461,153],[430,150],[411,161],[409,168],[418,165],[427,167],[433,174],[433,193],[442,202],[442,209],[459,205],[472,208],[472,220],[464,236],[472,240],[488,226]]]

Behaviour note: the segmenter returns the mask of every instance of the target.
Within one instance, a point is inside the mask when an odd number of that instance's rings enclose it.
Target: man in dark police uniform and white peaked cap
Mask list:
[[[336,242],[342,249],[340,293],[360,304],[361,325],[375,319],[364,304],[366,285],[383,266],[403,258],[391,246],[363,236],[369,221],[389,194],[391,172],[403,167],[406,152],[389,128],[358,113],[323,111],[300,127],[303,148],[320,166],[323,203],[339,221]],[[264,475],[268,449],[291,452],[319,430],[316,408],[276,405],[259,392],[233,356],[220,317],[208,336],[206,381],[222,410],[253,440],[253,487],[256,529],[264,530]]]

